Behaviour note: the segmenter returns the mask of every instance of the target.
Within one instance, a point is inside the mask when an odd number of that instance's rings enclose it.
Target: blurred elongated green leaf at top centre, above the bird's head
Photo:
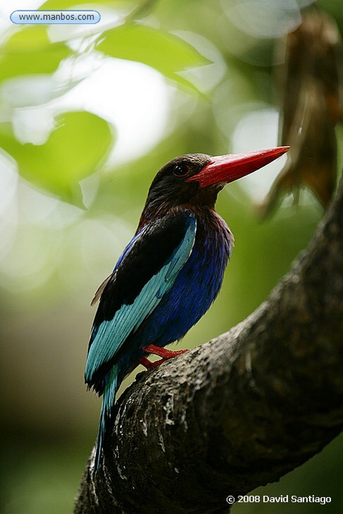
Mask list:
[[[104,32],[97,50],[107,56],[147,64],[166,77],[191,87],[194,86],[177,72],[209,62],[176,35],[139,24],[125,24]]]

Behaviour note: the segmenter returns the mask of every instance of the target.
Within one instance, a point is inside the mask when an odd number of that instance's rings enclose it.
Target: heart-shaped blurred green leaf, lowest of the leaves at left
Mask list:
[[[34,185],[78,201],[79,181],[94,173],[113,141],[109,124],[86,112],[56,118],[57,128],[46,143],[21,144],[9,123],[0,124],[0,146],[17,162],[20,174]]]

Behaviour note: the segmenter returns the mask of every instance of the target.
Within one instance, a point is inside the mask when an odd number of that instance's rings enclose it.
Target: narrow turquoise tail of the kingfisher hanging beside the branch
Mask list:
[[[115,364],[111,371],[107,373],[105,382],[106,385],[102,397],[93,474],[95,474],[99,468],[101,453],[105,441],[106,426],[111,418],[111,410],[116,399],[116,393],[118,390],[118,364]]]

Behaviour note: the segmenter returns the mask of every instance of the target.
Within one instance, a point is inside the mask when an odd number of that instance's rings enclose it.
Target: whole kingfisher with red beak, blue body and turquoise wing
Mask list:
[[[97,290],[99,300],[85,369],[88,389],[103,396],[94,473],[120,383],[147,354],[160,363],[185,350],[181,339],[206,313],[221,288],[233,235],[214,209],[226,183],[272,162],[288,146],[211,157],[176,157],[155,176],[138,228],[113,272]]]

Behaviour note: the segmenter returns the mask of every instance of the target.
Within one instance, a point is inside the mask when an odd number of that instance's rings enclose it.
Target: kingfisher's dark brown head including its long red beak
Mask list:
[[[142,217],[151,219],[182,205],[214,207],[228,183],[262,168],[287,152],[289,146],[211,157],[181,155],[169,161],[155,176]]]

